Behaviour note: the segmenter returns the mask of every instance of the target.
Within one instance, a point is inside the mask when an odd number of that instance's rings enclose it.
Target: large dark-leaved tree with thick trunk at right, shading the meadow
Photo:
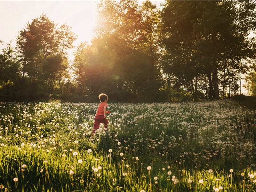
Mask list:
[[[162,42],[178,61],[170,63],[172,69],[177,69],[186,81],[191,81],[189,76],[196,79],[197,74],[207,75],[209,97],[219,99],[220,68],[225,68],[228,60],[235,60],[232,68],[236,69],[241,58],[251,53],[246,35],[254,28],[250,21],[254,7],[255,3],[241,1],[167,1]],[[184,65],[185,73],[179,63]]]

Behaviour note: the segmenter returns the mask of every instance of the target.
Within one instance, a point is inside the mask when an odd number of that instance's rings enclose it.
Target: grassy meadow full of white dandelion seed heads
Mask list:
[[[235,101],[0,102],[0,191],[255,191],[256,111]]]

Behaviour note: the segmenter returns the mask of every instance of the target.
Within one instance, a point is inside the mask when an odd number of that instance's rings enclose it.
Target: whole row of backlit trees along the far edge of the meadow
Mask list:
[[[73,61],[72,28],[40,15],[0,54],[0,100],[89,102],[101,92],[116,102],[220,99],[238,94],[245,74],[256,95],[255,1],[166,1],[162,8],[99,1],[95,35],[76,47]]]

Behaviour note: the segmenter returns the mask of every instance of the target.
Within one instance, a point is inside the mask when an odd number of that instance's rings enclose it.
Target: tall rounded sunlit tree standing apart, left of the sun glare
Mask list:
[[[17,37],[23,75],[20,97],[25,89],[26,77],[32,99],[39,90],[51,94],[53,89],[57,88],[56,82],[58,81],[59,85],[62,83],[67,76],[64,73],[68,66],[67,51],[73,48],[75,39],[76,36],[69,26],[61,25],[58,28],[45,14],[27,23],[26,28],[22,29]],[[46,89],[44,84],[47,85]]]

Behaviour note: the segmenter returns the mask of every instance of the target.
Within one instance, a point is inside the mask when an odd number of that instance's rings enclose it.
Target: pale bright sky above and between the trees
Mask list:
[[[139,0],[139,3],[144,0]],[[164,0],[151,0],[160,8]],[[74,42],[76,47],[79,43],[90,42],[93,37],[93,28],[96,25],[97,0],[83,1],[2,1],[0,0],[0,40],[5,44],[12,42],[15,46],[16,37],[20,30],[26,27],[41,14],[60,25],[67,24],[72,27],[72,31],[77,35]],[[0,50],[6,48],[5,44],[0,44]],[[69,59],[74,59],[75,49],[70,50]],[[0,51],[1,52],[1,51]],[[243,82],[244,84],[244,82]],[[242,92],[246,94],[244,88]]]

